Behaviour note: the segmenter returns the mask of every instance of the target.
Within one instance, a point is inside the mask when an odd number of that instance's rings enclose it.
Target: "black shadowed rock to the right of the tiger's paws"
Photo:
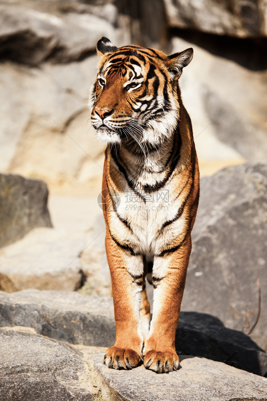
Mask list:
[[[176,331],[178,355],[202,356],[237,369],[267,375],[267,354],[243,332],[226,328],[206,313],[181,312]]]

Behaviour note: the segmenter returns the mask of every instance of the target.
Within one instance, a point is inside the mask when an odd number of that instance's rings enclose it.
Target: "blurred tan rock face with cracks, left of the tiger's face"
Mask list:
[[[93,56],[40,69],[9,63],[0,67],[1,92],[9,99],[0,120],[0,169],[60,183],[79,178],[86,163],[85,180],[102,175],[103,145],[87,127],[96,63]]]

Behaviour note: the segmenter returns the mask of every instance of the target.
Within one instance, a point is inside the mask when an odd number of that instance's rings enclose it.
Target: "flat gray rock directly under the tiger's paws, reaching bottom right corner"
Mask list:
[[[112,400],[267,400],[264,377],[205,358],[180,356],[180,362],[177,372],[161,375],[143,365],[131,371],[108,369],[101,356],[95,356],[94,369],[102,381],[102,394]]]

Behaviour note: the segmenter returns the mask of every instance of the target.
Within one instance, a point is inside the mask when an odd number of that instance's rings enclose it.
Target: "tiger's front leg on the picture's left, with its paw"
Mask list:
[[[106,234],[116,321],[116,341],[106,350],[104,363],[113,369],[132,369],[143,360],[140,302],[143,286],[143,257],[130,255]]]

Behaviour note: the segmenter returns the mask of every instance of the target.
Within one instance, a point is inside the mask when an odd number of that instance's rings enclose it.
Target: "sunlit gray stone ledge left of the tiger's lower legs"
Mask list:
[[[72,344],[112,346],[116,326],[112,298],[77,292],[0,292],[0,327],[27,326]]]

